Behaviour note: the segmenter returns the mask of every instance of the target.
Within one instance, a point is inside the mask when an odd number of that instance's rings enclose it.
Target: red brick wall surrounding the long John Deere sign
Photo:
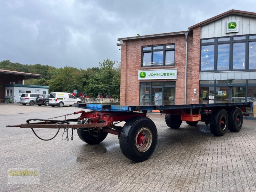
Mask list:
[[[188,35],[188,83],[187,99],[198,100],[198,94],[194,94],[194,88],[199,91],[199,54],[200,54],[200,27],[196,28],[196,36]],[[199,33],[199,34],[197,34]],[[192,41],[198,41],[193,42]],[[140,67],[141,47],[146,45],[175,44],[175,66],[168,67]],[[198,47],[197,47],[198,46]],[[193,51],[193,48],[198,50]],[[140,82],[152,80],[138,80],[138,70],[141,69],[162,69],[177,68],[177,79],[154,80],[154,81],[175,81],[175,101],[184,102],[185,94],[185,35],[169,36],[161,38],[148,38],[124,41],[121,48],[121,103],[137,103],[140,100]],[[197,66],[198,65],[198,66]],[[194,74],[196,73],[196,74]],[[192,75],[193,74],[193,75]],[[192,92],[193,91],[193,92]]]

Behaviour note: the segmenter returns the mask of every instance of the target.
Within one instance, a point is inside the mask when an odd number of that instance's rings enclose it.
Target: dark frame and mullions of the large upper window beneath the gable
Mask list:
[[[245,39],[234,40],[234,37],[242,37],[245,36]],[[200,72],[221,72],[221,71],[255,71],[254,69],[249,69],[249,43],[256,42],[256,38],[250,39],[250,36],[256,36],[256,34],[250,35],[236,35],[236,36],[223,36],[223,37],[214,37],[214,38],[204,38],[200,39]],[[228,41],[218,41],[218,39],[227,38],[229,37],[230,40]],[[204,40],[211,40],[214,39],[213,42],[206,42],[202,43]],[[245,69],[233,69],[233,53],[234,53],[234,44],[235,43],[245,43]],[[229,69],[228,70],[217,70],[218,64],[218,45],[219,44],[229,44]],[[213,70],[201,70],[201,60],[202,60],[202,46],[205,45],[214,45],[214,67]]]

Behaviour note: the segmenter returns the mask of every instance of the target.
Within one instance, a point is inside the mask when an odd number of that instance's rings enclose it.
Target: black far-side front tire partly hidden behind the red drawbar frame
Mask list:
[[[82,123],[81,123],[81,121],[79,121],[77,124],[82,124]],[[90,129],[92,129],[92,128],[90,128]],[[93,130],[90,130],[90,131],[84,131],[84,130],[87,130],[87,128],[77,129],[78,137],[82,141],[84,141],[88,144],[92,144],[92,145],[100,143],[108,135],[108,133],[103,132],[103,131],[101,131],[100,133],[96,133],[96,132],[93,132]]]

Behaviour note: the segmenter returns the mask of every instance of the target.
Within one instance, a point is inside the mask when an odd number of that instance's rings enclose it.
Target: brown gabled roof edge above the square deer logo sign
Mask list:
[[[189,27],[188,29],[193,30],[196,27],[207,25],[208,23],[211,23],[213,21],[219,20],[223,17],[226,17],[228,15],[232,15],[232,14],[256,18],[256,13],[254,13],[254,12],[247,12],[247,11],[240,11],[240,10],[231,9],[227,12],[221,13],[221,14],[216,15],[216,16],[210,18],[210,19],[207,19],[207,20],[204,20],[200,23],[197,23],[196,25],[193,25],[193,26]]]

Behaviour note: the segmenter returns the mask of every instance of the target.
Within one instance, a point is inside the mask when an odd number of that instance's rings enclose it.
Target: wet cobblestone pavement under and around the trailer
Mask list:
[[[123,156],[115,135],[98,145],[84,143],[76,133],[73,141],[62,141],[62,132],[42,141],[29,129],[9,133],[1,124],[0,191],[256,191],[256,121],[244,120],[240,132],[216,137],[202,122],[170,129],[164,115],[149,116],[158,141],[141,163]],[[13,115],[3,117],[15,124]],[[37,132],[50,138],[55,131]],[[8,169],[31,167],[40,170],[39,185],[7,184]]]

